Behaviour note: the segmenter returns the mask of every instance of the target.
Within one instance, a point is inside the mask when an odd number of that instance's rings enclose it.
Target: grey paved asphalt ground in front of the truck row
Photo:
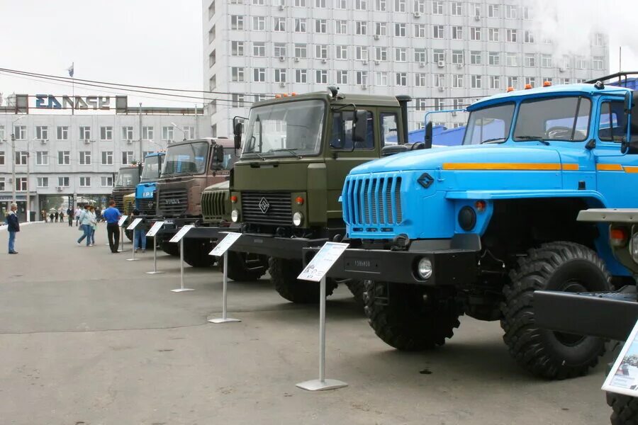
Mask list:
[[[23,227],[6,254],[0,230],[0,424],[608,424],[603,366],[584,378],[538,380],[508,356],[497,322],[461,318],[444,346],[401,353],[377,339],[346,288],[328,301],[328,378],[318,375],[318,310],[293,305],[263,279],[222,276],[152,250],[77,246],[75,227]],[[130,244],[126,244],[130,249]],[[604,361],[610,361],[606,356]]]

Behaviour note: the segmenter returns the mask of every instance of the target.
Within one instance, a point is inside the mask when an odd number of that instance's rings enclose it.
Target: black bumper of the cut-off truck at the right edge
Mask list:
[[[554,331],[625,341],[638,319],[636,288],[591,294],[538,290],[534,317],[540,327]]]

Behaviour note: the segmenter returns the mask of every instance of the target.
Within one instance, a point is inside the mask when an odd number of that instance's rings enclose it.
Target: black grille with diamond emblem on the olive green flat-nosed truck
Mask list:
[[[290,193],[242,192],[244,222],[259,225],[292,225]]]

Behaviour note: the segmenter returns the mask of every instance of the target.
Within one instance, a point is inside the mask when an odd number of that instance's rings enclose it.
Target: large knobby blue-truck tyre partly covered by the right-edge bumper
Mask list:
[[[510,354],[523,368],[549,379],[585,375],[605,352],[605,341],[537,327],[535,290],[598,292],[611,290],[610,276],[598,255],[573,242],[553,242],[530,249],[510,271],[500,326]]]

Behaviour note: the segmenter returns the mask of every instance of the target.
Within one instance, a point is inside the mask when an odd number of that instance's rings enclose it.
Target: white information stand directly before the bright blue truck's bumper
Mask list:
[[[308,266],[297,276],[301,280],[320,282],[319,291],[319,379],[308,380],[297,384],[297,387],[308,391],[335,390],[347,387],[347,383],[336,379],[325,379],[325,275],[339,259],[348,244],[326,242],[314,256]]]

